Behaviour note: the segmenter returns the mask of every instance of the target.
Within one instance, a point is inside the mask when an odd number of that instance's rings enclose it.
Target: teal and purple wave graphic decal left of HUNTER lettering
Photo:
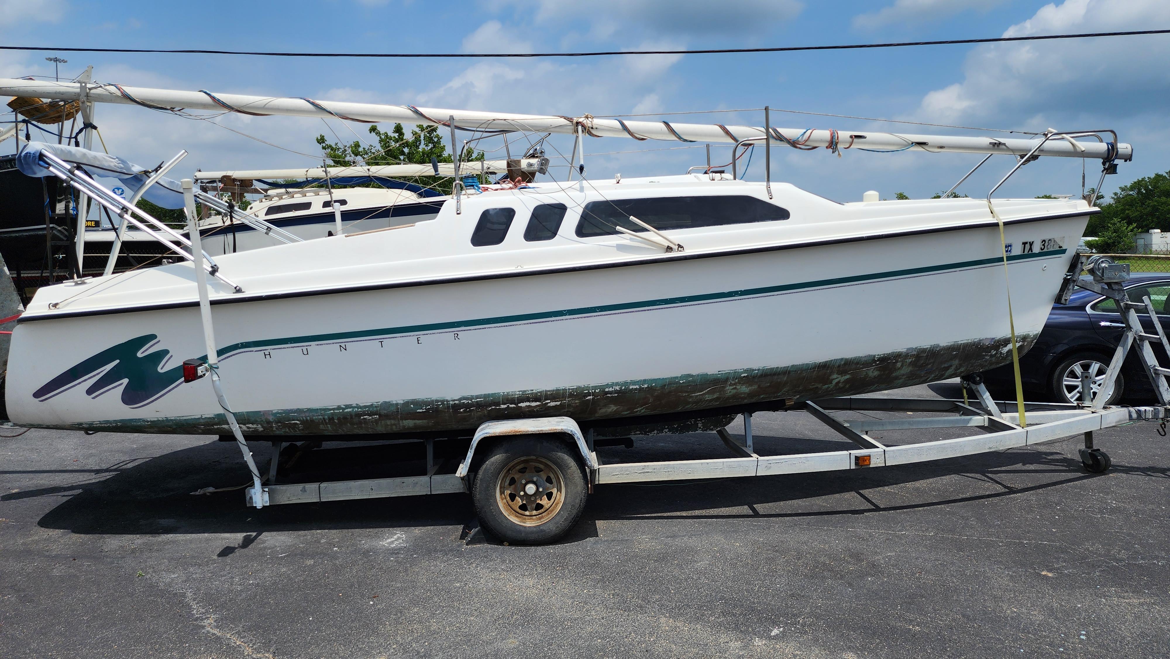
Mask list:
[[[48,400],[96,377],[85,393],[94,398],[122,387],[122,403],[129,407],[140,407],[157,400],[164,393],[183,383],[183,363],[161,370],[170,361],[171,351],[159,349],[146,352],[158,343],[158,335],[145,334],[124,341],[94,355],[80,364],[67,369],[33,392],[33,398]]]

